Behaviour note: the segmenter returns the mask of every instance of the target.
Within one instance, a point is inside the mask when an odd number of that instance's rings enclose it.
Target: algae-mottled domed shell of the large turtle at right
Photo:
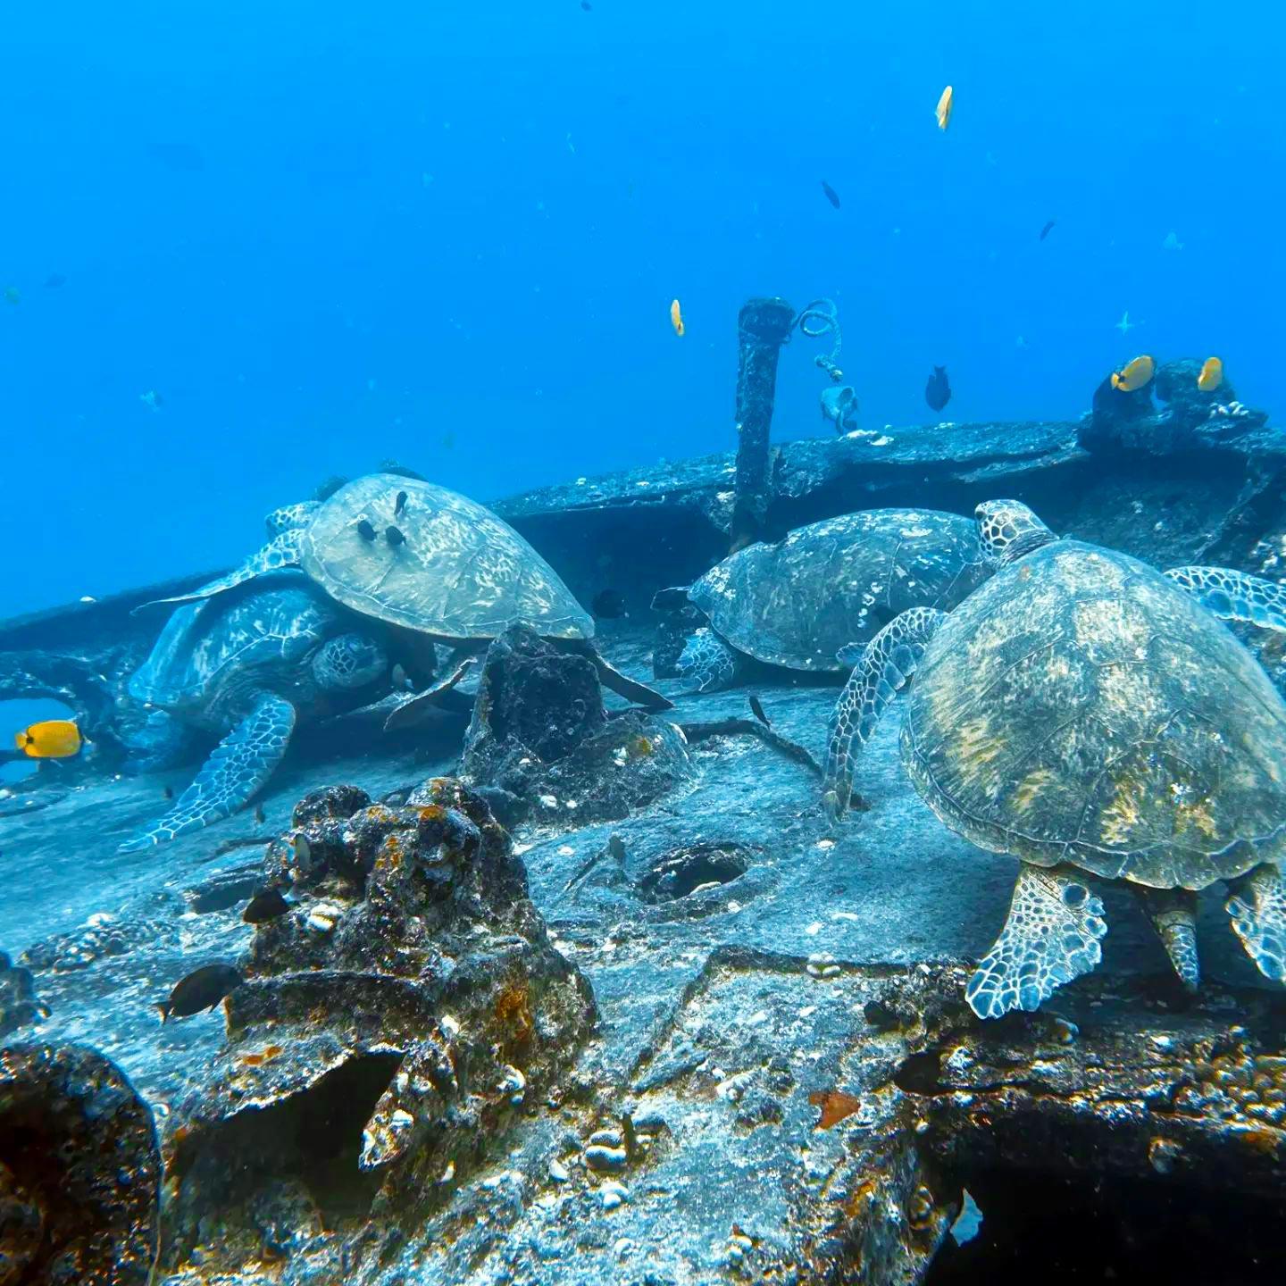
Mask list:
[[[939,628],[901,732],[934,811],[984,849],[1204,889],[1286,846],[1286,705],[1183,590],[1060,540]]]

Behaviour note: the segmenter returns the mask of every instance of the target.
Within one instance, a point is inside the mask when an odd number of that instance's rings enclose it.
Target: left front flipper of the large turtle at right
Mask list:
[[[849,809],[858,756],[874,736],[889,702],[916,673],[925,648],[944,620],[946,613],[934,607],[912,607],[895,616],[860,656],[856,656],[855,644],[840,651],[841,661],[856,657],[856,665],[831,715],[822,802],[832,819]]]

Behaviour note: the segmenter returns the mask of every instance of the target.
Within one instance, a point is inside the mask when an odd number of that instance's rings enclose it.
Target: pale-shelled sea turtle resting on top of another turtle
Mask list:
[[[594,620],[507,522],[419,478],[370,473],[320,502],[274,509],[271,538],[226,576],[167,603],[208,598],[280,567],[301,567],[345,607],[466,652],[511,625],[583,652],[612,691],[653,709],[670,702],[612,669]]]

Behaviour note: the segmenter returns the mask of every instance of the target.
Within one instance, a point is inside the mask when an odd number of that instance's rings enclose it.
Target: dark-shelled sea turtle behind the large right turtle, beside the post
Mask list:
[[[867,509],[741,549],[687,589],[661,590],[652,606],[692,603],[705,613],[709,624],[678,669],[696,691],[711,692],[736,683],[747,657],[840,674],[845,644],[865,643],[908,607],[954,607],[990,571],[970,518]]]

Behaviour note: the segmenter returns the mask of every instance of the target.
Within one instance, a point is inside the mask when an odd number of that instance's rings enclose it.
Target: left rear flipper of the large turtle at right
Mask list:
[[[1019,869],[1010,916],[964,989],[980,1019],[1035,1010],[1103,957],[1103,903],[1073,867]]]

